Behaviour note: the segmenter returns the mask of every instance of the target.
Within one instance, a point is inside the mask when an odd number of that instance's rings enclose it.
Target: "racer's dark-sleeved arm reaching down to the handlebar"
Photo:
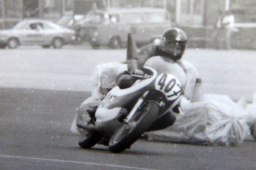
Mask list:
[[[128,71],[129,73],[132,72],[132,70],[142,70],[145,62],[148,60],[148,58],[155,56],[156,54],[157,46],[154,44],[149,44],[142,48],[138,54],[136,54],[135,58],[128,61]]]

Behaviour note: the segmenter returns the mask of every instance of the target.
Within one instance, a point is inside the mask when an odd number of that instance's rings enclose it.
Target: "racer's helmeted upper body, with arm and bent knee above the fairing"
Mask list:
[[[170,59],[184,68],[179,60],[185,51],[186,41],[187,35],[180,28],[169,28],[165,30],[160,44],[151,43],[145,46],[137,53],[135,58],[128,61],[128,72],[124,72],[117,77],[117,85],[121,89],[130,87],[136,81],[130,74],[144,75],[142,68],[145,62],[153,56],[162,56]]]

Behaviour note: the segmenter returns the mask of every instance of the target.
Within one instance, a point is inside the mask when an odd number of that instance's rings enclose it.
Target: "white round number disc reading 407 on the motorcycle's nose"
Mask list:
[[[176,100],[182,94],[180,81],[171,74],[161,73],[155,81],[155,89],[162,91],[168,100]]]

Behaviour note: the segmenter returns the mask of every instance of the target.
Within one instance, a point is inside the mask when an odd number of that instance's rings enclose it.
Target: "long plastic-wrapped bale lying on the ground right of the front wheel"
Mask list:
[[[184,116],[173,126],[148,133],[149,140],[203,145],[239,145],[250,133],[247,112],[228,96],[206,94],[205,101],[181,102]],[[186,102],[184,102],[186,101]]]

